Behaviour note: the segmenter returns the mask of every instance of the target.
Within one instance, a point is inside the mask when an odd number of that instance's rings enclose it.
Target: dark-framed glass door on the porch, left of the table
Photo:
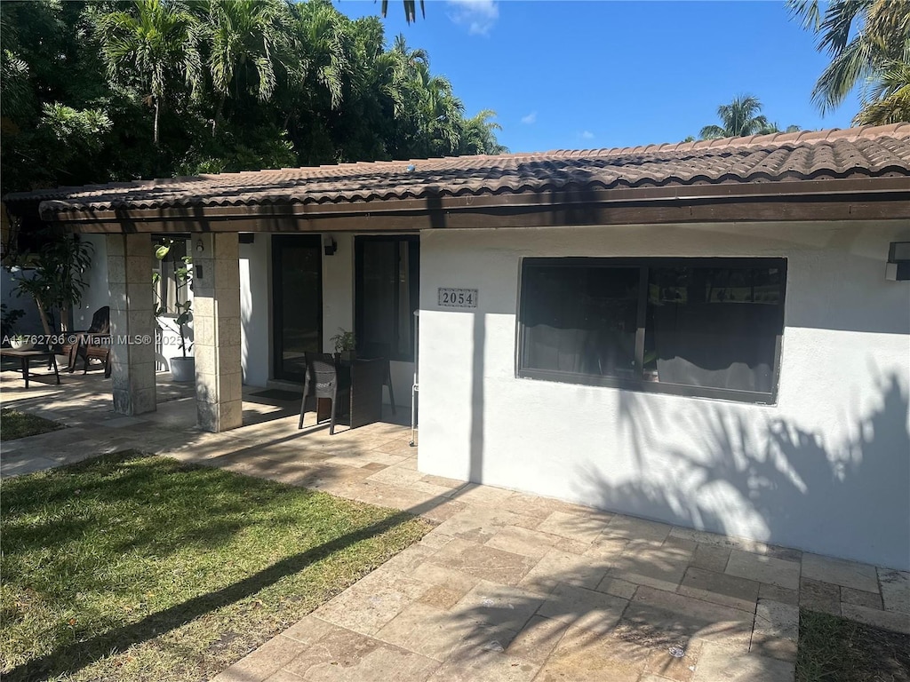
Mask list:
[[[319,235],[272,236],[272,301],[274,376],[303,381],[303,354],[322,352]]]

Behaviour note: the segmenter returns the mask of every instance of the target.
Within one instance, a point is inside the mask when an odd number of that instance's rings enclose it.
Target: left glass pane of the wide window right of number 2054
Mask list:
[[[529,267],[523,366],[632,376],[639,278],[635,267]]]

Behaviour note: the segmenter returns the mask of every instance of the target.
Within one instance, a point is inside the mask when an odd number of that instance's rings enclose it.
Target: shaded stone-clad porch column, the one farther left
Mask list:
[[[108,235],[106,246],[114,410],[121,415],[154,412],[152,241],[148,235]]]

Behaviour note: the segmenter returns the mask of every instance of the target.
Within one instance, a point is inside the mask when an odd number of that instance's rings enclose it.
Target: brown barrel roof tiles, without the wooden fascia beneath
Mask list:
[[[80,209],[344,205],[428,196],[875,176],[910,177],[910,124],[622,149],[379,161],[175,177],[37,190],[7,195],[5,201],[41,201],[42,214],[47,216]]]

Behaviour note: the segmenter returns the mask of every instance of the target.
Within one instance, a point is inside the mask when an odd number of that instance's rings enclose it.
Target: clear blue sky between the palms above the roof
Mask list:
[[[379,3],[339,0],[350,16]],[[849,127],[851,98],[824,117],[810,101],[826,59],[784,3],[430,0],[406,25],[389,0],[389,42],[430,52],[466,114],[489,108],[513,152],[676,142],[748,93],[782,128]],[[420,10],[419,10],[420,14]]]

